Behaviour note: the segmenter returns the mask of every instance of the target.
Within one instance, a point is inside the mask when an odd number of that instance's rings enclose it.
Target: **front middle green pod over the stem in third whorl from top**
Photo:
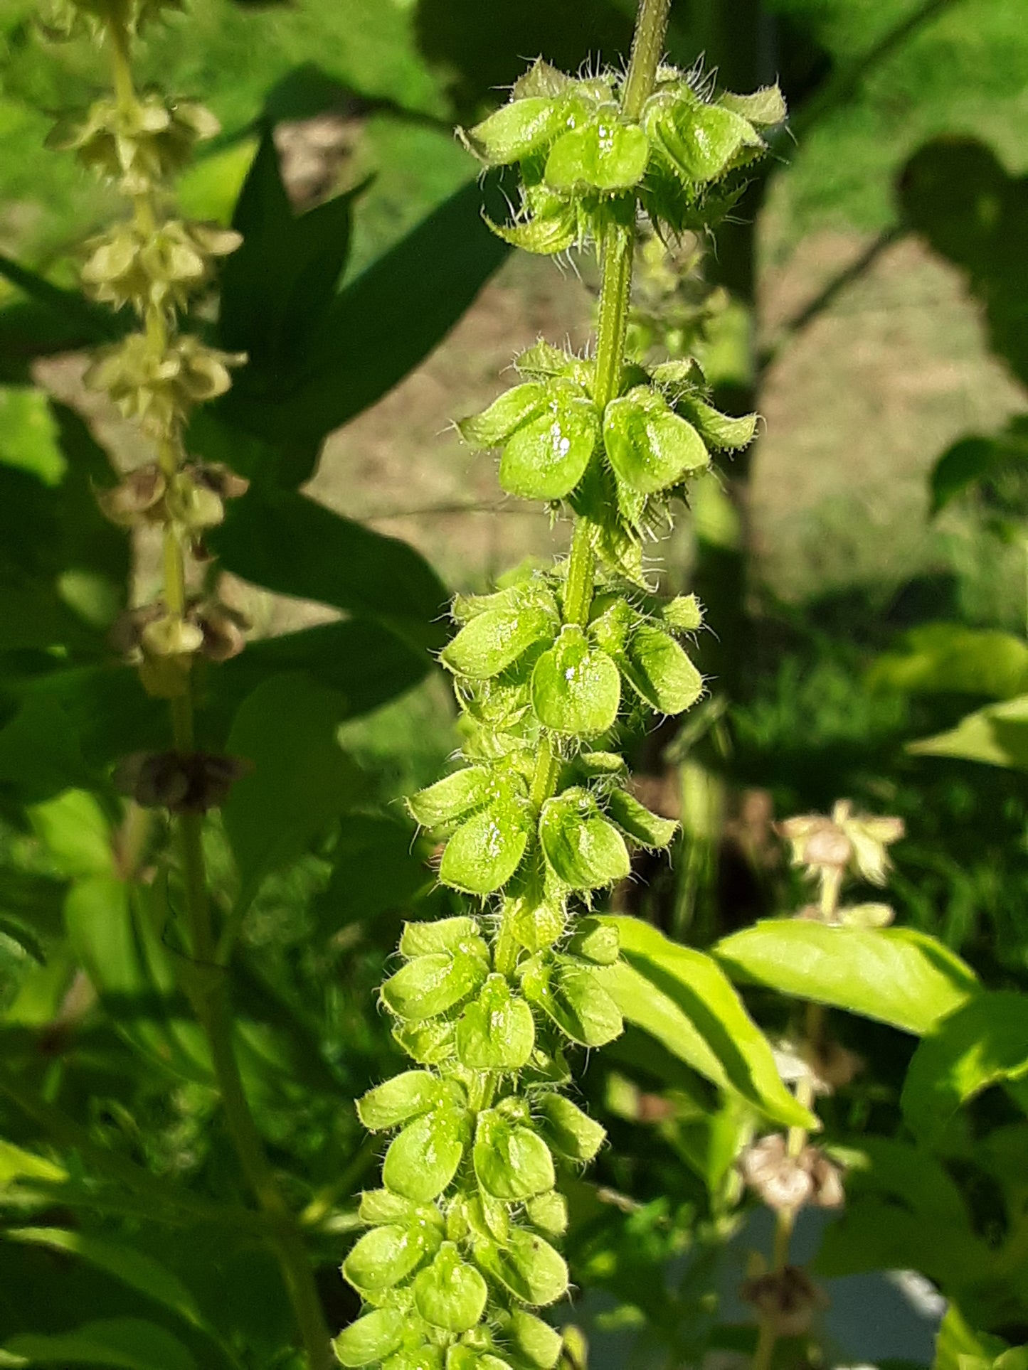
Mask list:
[[[577,623],[565,623],[532,671],[532,708],[544,727],[596,737],[614,726],[621,675],[606,652],[591,648]]]

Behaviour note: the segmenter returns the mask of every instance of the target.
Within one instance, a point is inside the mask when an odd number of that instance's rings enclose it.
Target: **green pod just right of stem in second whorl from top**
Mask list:
[[[648,385],[606,407],[603,447],[618,480],[640,495],[670,489],[710,462],[699,433]]]

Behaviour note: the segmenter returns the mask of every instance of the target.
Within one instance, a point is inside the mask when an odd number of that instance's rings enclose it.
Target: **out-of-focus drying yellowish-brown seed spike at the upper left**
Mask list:
[[[143,801],[201,810],[223,797],[233,769],[218,758],[188,755],[192,725],[182,719],[191,717],[191,674],[199,656],[225,660],[241,651],[245,623],[210,596],[186,595],[188,564],[207,559],[204,532],[222,521],[225,500],[243,495],[247,482],[221,463],[191,460],[184,432],[192,408],[222,395],[230,385],[229,369],[243,358],[181,332],[180,312],[210,286],[218,260],[240,236],[185,221],[170,208],[170,181],[196,144],[218,132],[214,115],[193,101],[137,92],[133,85],[133,40],[178,8],[178,0],[62,0],[52,32],[86,30],[97,37],[110,51],[114,93],[64,119],[49,141],[74,151],[132,206],[127,219],[86,244],[82,284],[95,300],[133,310],[138,327],[100,348],[85,381],[106,392],[156,445],[155,462],[99,490],[97,499],[122,527],[160,529],[164,589],[155,603],[123,615],[112,641],[138,667],[148,693],[186,701],[177,715],[180,762],[169,760],[175,754],[140,762],[143,780],[136,789],[148,796]],[[208,771],[218,778],[204,778]]]

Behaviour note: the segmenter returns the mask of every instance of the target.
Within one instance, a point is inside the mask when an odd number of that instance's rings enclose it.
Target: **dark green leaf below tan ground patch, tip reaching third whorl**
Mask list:
[[[304,495],[251,486],[210,544],[256,585],[378,619],[415,648],[443,641],[447,592],[428,562]]]

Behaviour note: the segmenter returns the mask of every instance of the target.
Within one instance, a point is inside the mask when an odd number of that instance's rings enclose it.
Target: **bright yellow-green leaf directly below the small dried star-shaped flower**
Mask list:
[[[959,956],[913,927],[769,918],[714,947],[731,975],[921,1036],[977,992]]]

